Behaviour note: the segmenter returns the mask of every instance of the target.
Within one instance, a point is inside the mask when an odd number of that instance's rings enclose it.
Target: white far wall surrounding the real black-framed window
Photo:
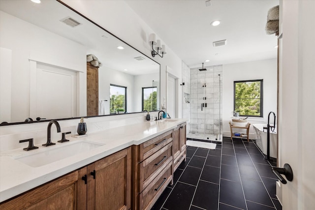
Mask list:
[[[249,118],[253,123],[266,123],[269,112],[277,113],[277,59],[223,65],[223,136],[230,136],[228,121],[233,117],[234,81],[263,79],[263,118]],[[255,138],[250,128],[250,138]]]

